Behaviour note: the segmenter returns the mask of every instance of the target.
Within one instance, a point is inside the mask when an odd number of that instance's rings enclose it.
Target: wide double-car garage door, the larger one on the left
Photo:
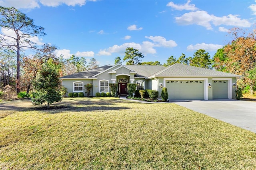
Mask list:
[[[203,80],[167,80],[169,100],[204,100]]]

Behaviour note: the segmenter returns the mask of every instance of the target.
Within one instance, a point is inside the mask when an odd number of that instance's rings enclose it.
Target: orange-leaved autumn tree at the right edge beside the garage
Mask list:
[[[227,72],[244,75],[244,83],[250,86],[252,95],[255,83],[247,73],[256,67],[256,29],[247,34],[240,28],[233,28],[230,34],[233,40],[224,47],[228,59],[221,65],[225,65]]]

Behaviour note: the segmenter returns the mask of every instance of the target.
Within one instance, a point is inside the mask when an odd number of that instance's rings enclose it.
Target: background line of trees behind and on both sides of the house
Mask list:
[[[84,57],[75,55],[65,59],[63,55],[56,56],[55,45],[36,45],[32,38],[46,36],[44,28],[36,26],[31,18],[15,8],[0,6],[0,27],[15,33],[10,35],[0,33],[0,89],[10,85],[16,88],[16,93],[20,91],[29,93],[38,72],[48,62],[54,65],[59,76],[98,67],[95,58],[91,58],[88,63]],[[164,64],[159,61],[141,62],[144,55],[138,49],[128,47],[123,59],[116,57],[114,63],[122,64],[125,61],[126,65],[163,65],[165,67],[182,63],[244,75],[238,80],[238,85],[250,86],[252,94],[256,83],[256,30],[246,34],[240,28],[233,28],[230,30],[230,35],[232,41],[218,49],[213,57],[204,49],[198,49],[192,57],[186,57],[184,53],[178,58],[171,55]],[[22,51],[25,49],[30,49],[33,54],[24,55]]]

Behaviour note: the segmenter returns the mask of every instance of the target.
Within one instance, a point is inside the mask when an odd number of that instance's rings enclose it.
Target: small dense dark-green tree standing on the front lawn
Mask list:
[[[62,100],[61,81],[53,67],[44,66],[33,85],[35,89],[32,97],[33,105],[44,103],[45,107],[49,108],[50,104]]]

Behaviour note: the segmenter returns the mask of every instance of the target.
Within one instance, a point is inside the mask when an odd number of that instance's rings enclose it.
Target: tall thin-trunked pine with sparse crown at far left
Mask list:
[[[31,41],[32,36],[44,36],[44,28],[36,26],[34,21],[15,8],[0,6],[0,27],[12,34],[0,33],[0,48],[9,47],[17,53],[16,92],[20,92],[20,50],[24,48],[37,49]],[[10,41],[10,39],[14,41]]]

